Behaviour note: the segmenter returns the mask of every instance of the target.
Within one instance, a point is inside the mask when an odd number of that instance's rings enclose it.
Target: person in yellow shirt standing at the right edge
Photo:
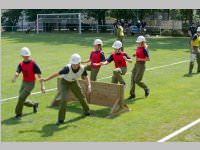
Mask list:
[[[189,75],[192,75],[192,70],[194,67],[194,61],[197,61],[197,73],[200,73],[200,27],[197,28],[197,33],[191,39],[191,57],[189,66]]]

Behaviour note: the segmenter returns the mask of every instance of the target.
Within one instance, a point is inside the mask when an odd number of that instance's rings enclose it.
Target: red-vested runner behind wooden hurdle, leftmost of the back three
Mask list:
[[[88,59],[87,61],[82,61],[82,63],[90,62],[90,64],[87,65],[85,67],[85,69],[87,71],[91,71],[91,74],[90,74],[90,80],[91,81],[97,80],[97,75],[98,75],[99,70],[101,68],[100,65],[94,66],[93,64],[105,61],[105,56],[104,56],[104,52],[102,51],[102,46],[103,46],[102,40],[96,39],[94,41],[94,50],[90,54],[90,59]]]

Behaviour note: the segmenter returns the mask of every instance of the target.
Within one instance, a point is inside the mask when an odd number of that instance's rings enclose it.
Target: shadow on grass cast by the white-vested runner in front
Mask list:
[[[49,136],[53,136],[55,132],[67,129],[69,127],[76,127],[75,125],[71,123],[79,121],[84,118],[85,116],[78,116],[74,119],[66,121],[64,124],[59,125],[59,126],[57,126],[55,123],[54,124],[51,123],[51,124],[44,125],[41,130],[21,130],[19,131],[19,133],[23,134],[27,132],[36,132],[36,133],[40,133],[41,137],[49,137]]]

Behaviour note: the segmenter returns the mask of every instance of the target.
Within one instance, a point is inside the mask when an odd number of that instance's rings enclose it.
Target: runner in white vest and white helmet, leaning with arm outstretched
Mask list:
[[[87,81],[88,92],[91,92],[91,84],[90,79],[87,77],[87,72],[83,65],[81,65],[81,57],[79,54],[73,54],[70,58],[69,64],[67,64],[63,69],[58,72],[53,73],[47,78],[42,79],[41,81],[49,81],[59,75],[62,75],[61,79],[61,103],[60,109],[58,112],[58,120],[56,122],[57,125],[64,123],[65,113],[66,113],[66,100],[67,100],[67,91],[71,90],[74,95],[80,101],[84,115],[89,116],[89,106],[87,104],[87,100],[85,99],[81,86],[78,83],[78,79],[83,77]]]

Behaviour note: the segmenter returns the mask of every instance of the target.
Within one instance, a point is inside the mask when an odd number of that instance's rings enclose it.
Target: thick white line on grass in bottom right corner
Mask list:
[[[177,131],[171,133],[170,135],[168,135],[168,136],[162,138],[161,140],[159,140],[159,141],[157,141],[157,142],[160,142],[160,143],[161,143],[161,142],[166,142],[166,141],[168,141],[169,139],[171,139],[171,138],[177,136],[178,134],[184,132],[185,130],[187,130],[187,129],[189,129],[189,128],[195,126],[195,125],[197,125],[198,123],[200,123],[200,118],[197,119],[197,120],[195,120],[195,121],[193,121],[192,123],[190,123],[190,124],[188,124],[188,125],[186,125],[186,126],[180,128],[179,130],[177,130]]]

